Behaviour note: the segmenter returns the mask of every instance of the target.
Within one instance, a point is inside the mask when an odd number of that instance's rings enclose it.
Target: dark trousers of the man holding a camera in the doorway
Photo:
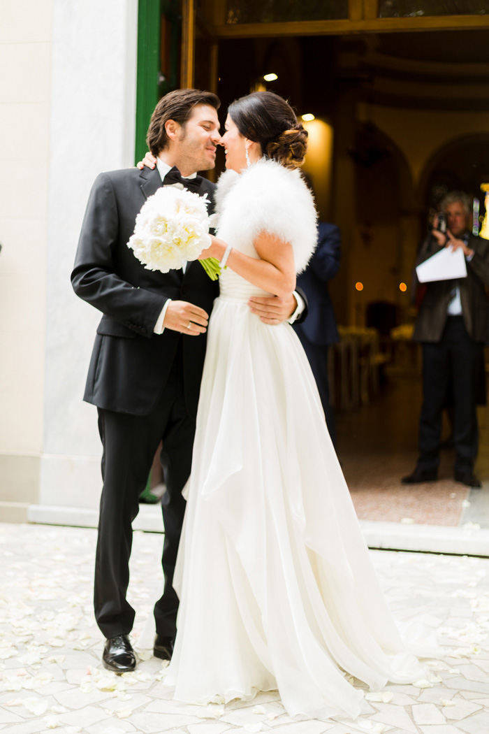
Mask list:
[[[473,468],[477,457],[477,385],[482,344],[468,335],[463,316],[449,316],[441,341],[423,345],[423,404],[419,418],[422,469],[437,469],[442,413],[452,385],[455,470]]]

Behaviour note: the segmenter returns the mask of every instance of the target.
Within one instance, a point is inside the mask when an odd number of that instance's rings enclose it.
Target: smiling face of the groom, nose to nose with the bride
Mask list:
[[[220,139],[216,110],[206,104],[194,106],[187,122],[178,126],[174,139],[175,164],[182,175],[213,168]]]

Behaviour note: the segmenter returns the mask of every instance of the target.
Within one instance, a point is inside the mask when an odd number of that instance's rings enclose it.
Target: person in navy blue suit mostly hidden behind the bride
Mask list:
[[[339,229],[319,222],[316,250],[306,270],[297,278],[297,285],[307,297],[308,316],[300,324],[294,324],[315,376],[329,435],[335,445],[334,413],[329,404],[328,346],[338,341],[338,330],[328,294],[328,280],[337,274],[340,258]]]

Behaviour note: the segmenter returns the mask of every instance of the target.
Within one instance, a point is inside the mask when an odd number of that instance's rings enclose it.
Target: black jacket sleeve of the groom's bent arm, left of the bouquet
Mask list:
[[[129,329],[151,337],[167,298],[118,275],[124,261],[133,257],[129,249],[119,249],[121,236],[132,234],[123,226],[121,199],[124,197],[117,198],[111,177],[101,173],[89,196],[71,280],[80,298]]]

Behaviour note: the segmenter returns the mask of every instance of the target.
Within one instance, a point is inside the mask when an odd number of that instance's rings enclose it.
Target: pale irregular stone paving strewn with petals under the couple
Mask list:
[[[129,598],[137,642],[161,587],[161,534],[134,537]],[[489,560],[371,551],[411,638],[438,635],[427,680],[366,696],[357,722],[292,721],[276,694],[207,708],[177,704],[161,661],[117,677],[100,666],[92,617],[95,531],[0,525],[0,733],[488,734]],[[358,683],[356,683],[358,685]]]

